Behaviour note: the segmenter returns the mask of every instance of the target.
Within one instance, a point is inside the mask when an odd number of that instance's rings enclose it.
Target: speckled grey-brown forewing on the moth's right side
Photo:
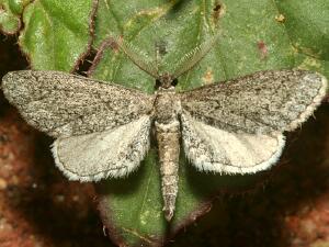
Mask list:
[[[180,93],[182,111],[231,133],[271,134],[303,123],[326,96],[327,79],[307,70],[268,70]]]

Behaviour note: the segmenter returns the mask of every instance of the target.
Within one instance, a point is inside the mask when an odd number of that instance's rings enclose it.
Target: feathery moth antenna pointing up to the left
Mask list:
[[[157,66],[155,66],[151,61],[148,61],[148,55],[146,53],[143,53],[136,46],[123,40],[123,37],[115,38],[115,41],[118,47],[136,66],[154,78],[159,77]]]

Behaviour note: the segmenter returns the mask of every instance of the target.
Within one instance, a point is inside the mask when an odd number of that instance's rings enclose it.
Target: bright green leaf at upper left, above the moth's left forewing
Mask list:
[[[31,67],[43,70],[72,70],[91,42],[90,0],[39,0],[23,13],[20,36]]]

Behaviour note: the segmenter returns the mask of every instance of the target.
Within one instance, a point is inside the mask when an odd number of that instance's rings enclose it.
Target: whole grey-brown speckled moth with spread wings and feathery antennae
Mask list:
[[[324,76],[306,70],[259,71],[190,91],[175,82],[212,44],[198,46],[171,74],[144,61],[129,45],[120,48],[156,78],[155,94],[60,71],[12,71],[2,79],[5,98],[24,120],[56,141],[53,155],[70,180],[99,181],[136,170],[158,145],[164,217],[178,195],[180,144],[201,171],[250,173],[275,164],[284,132],[298,127],[326,94]]]

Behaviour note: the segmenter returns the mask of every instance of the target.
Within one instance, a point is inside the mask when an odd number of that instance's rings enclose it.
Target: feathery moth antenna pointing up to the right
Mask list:
[[[173,72],[173,78],[178,78],[179,76],[192,69],[211,50],[211,48],[213,48],[218,37],[219,33],[185,54],[175,66],[177,69]]]

